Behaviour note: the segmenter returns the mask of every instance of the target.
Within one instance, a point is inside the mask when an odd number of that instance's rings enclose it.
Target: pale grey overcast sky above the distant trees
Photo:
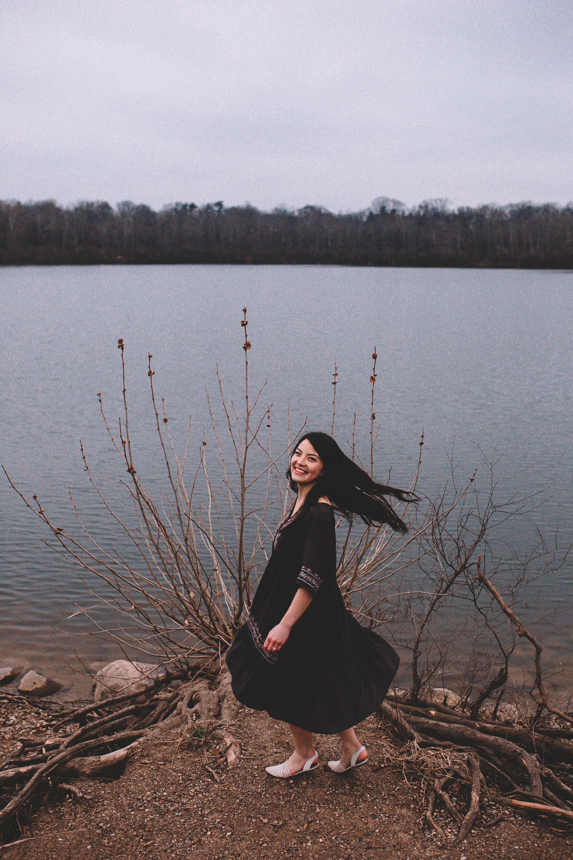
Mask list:
[[[573,200],[571,0],[0,0],[0,199]]]

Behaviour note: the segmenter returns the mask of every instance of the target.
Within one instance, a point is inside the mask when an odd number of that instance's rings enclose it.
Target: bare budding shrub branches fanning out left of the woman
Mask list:
[[[34,494],[34,505],[27,507],[52,531],[53,549],[84,572],[95,574],[110,587],[107,596],[96,595],[117,619],[116,627],[103,627],[88,609],[81,609],[95,630],[118,643],[125,653],[133,651],[154,659],[188,664],[221,656],[229,647],[241,617],[250,605],[253,581],[265,563],[265,542],[271,534],[266,515],[272,501],[283,512],[289,494],[282,470],[271,450],[271,404],[255,410],[265,384],[253,400],[249,392],[247,308],[243,308],[241,329],[245,353],[245,410],[240,419],[233,402],[228,404],[218,368],[216,372],[222,415],[229,432],[234,474],[223,450],[221,434],[210,396],[207,405],[216,442],[215,458],[208,458],[203,439],[198,463],[191,476],[186,470],[189,451],[180,455],[172,439],[165,403],[158,405],[155,371],[148,357],[148,377],[155,426],[167,479],[162,491],[153,491],[143,482],[130,431],[125,379],[125,343],[118,341],[121,353],[124,417],[119,419],[116,436],[107,420],[101,393],[101,417],[113,449],[127,472],[111,478],[94,473],[82,442],[82,459],[88,481],[113,522],[113,531],[123,536],[123,550],[104,545],[94,537],[82,520],[82,513],[70,492],[70,501],[81,526],[79,535],[52,522]],[[191,426],[191,425],[190,425]],[[249,458],[253,446],[262,452],[263,465],[251,475]],[[259,458],[260,461],[260,458]],[[256,465],[256,464],[255,464]],[[212,471],[216,471],[213,477]],[[109,501],[106,488],[120,490],[129,505]],[[257,507],[249,502],[256,489]],[[109,594],[111,593],[111,596]]]

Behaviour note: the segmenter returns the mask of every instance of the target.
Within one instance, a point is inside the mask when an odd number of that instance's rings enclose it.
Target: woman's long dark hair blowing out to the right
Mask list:
[[[415,495],[373,481],[367,472],[353,463],[350,457],[346,457],[332,436],[326,433],[305,433],[296,443],[293,454],[304,439],[308,439],[319,455],[323,470],[308,492],[303,507],[311,507],[321,495],[326,495],[346,518],[356,513],[368,525],[387,523],[394,531],[401,531],[402,534],[408,531],[404,520],[399,518],[384,496],[393,496],[399,501],[418,501]],[[296,491],[298,485],[290,474],[290,463],[286,476],[290,479],[290,488]]]

